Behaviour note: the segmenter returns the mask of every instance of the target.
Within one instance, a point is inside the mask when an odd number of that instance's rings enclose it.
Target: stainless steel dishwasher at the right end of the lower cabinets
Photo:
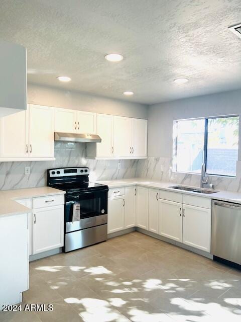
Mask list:
[[[241,205],[212,200],[211,253],[241,265]]]

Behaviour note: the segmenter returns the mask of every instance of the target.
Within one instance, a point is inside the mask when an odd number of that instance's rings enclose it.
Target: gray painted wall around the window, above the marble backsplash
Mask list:
[[[148,110],[148,156],[172,157],[174,120],[227,114],[241,114],[241,90],[150,105]],[[239,123],[238,159],[241,156],[240,135]]]

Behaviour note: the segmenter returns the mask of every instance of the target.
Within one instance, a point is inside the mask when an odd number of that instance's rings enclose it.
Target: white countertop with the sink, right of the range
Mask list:
[[[203,198],[217,199],[217,200],[241,204],[241,193],[215,189],[215,190],[218,190],[217,193],[201,194],[197,192],[189,192],[189,191],[170,188],[172,186],[179,185],[173,182],[160,182],[160,181],[152,181],[152,180],[149,181],[148,179],[143,179],[143,178],[133,178],[133,179],[122,179],[122,180],[98,181],[98,183],[107,185],[109,188],[126,187],[126,186],[144,186],[149,188],[156,188],[156,189],[173,191],[173,192],[182,193],[182,194],[199,196]],[[198,189],[200,187],[196,187],[196,188]]]

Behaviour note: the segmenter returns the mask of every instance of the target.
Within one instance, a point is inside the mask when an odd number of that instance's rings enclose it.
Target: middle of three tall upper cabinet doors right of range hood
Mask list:
[[[131,118],[114,116],[114,156],[125,157],[131,155],[131,128]]]

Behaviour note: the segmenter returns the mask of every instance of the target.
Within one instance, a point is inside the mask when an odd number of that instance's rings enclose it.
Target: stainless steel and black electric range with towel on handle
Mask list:
[[[47,170],[47,185],[64,190],[65,253],[107,239],[108,186],[89,182],[89,168]]]

